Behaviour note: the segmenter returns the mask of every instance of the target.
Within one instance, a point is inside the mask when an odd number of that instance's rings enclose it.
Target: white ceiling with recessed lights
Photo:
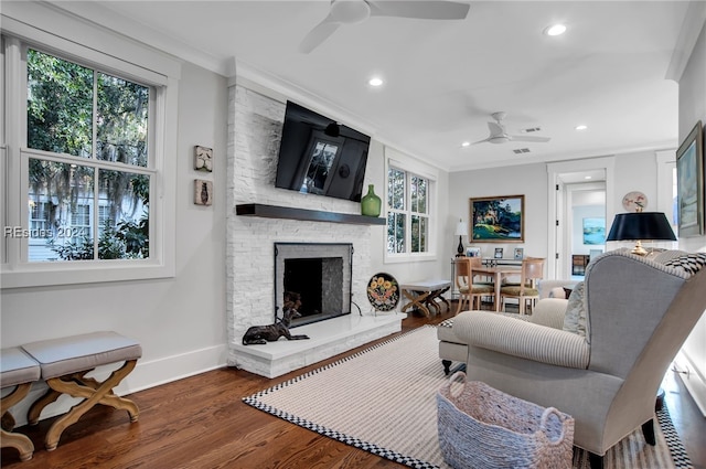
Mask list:
[[[343,25],[309,54],[298,45],[329,1],[55,3],[223,75],[235,64],[285,84],[304,106],[448,171],[677,146],[666,76],[683,1],[470,1],[466,20]],[[544,35],[555,22],[567,32]],[[379,88],[366,83],[374,74]],[[539,127],[533,135],[552,140],[461,147],[486,138],[500,110],[510,134]]]

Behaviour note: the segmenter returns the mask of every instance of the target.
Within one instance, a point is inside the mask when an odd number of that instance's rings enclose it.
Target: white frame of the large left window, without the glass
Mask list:
[[[14,13],[22,15],[22,12]],[[24,14],[31,15],[32,11]],[[52,26],[40,29],[6,17],[4,12],[2,15],[0,84],[3,87],[0,104],[3,106],[0,110],[7,118],[4,127],[0,130],[0,137],[3,138],[0,141],[0,150],[3,150],[0,154],[3,158],[0,161],[0,178],[4,186],[2,195],[7,203],[0,210],[6,232],[0,252],[0,288],[174,277],[176,161],[173,157],[167,156],[176,154],[176,109],[181,66],[160,53],[137,46],[93,25],[66,18],[60,22],[63,28],[66,28],[66,22],[73,23],[69,31],[62,32],[66,38],[52,33]],[[81,41],[89,41],[92,46],[83,45]],[[104,50],[99,50],[100,45]],[[146,171],[151,173],[149,258],[36,263],[28,259],[28,243],[21,234],[8,236],[8,228],[29,228],[29,207],[26,203],[22,204],[22,200],[26,199],[28,189],[28,164],[23,158],[29,157],[23,153],[40,151],[26,148],[26,47],[145,84],[154,92],[153,115],[150,115],[153,130],[148,143],[152,145],[152,151],[146,168]],[[152,111],[152,108],[150,110]],[[47,158],[53,154],[45,153]],[[82,161],[88,166],[90,162],[88,159]],[[141,167],[119,168],[121,171],[136,172]]]

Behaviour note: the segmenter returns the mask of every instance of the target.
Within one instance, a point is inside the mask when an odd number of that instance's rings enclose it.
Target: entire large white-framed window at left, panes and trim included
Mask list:
[[[4,20],[2,288],[173,276],[179,65],[79,22]]]

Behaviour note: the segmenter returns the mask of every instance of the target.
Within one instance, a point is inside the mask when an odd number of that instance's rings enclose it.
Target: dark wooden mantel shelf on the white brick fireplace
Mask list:
[[[384,225],[385,218],[354,215],[351,213],[324,212],[321,210],[292,209],[289,206],[244,203],[235,206],[235,213],[242,216],[265,218],[300,220],[303,222],[347,223],[352,225]]]

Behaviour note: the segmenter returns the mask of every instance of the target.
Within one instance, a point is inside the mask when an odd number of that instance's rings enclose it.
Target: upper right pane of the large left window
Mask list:
[[[147,166],[149,88],[98,73],[96,158]]]

